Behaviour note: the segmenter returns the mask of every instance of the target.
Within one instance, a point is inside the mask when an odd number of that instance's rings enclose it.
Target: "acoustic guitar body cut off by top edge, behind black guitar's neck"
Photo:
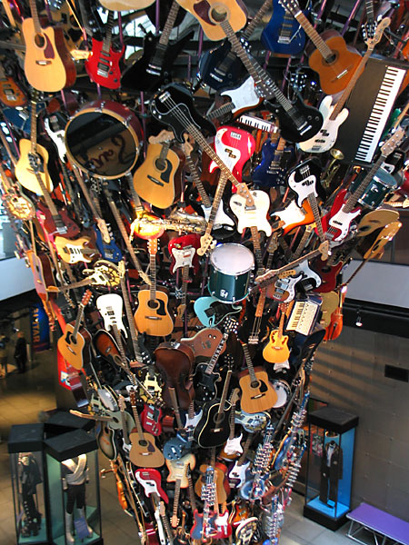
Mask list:
[[[224,0],[223,4],[218,0],[177,0],[177,3],[199,21],[205,35],[212,41],[223,40],[225,37],[222,27],[216,25],[212,19],[213,8],[218,8],[220,13],[227,11],[234,32],[241,30],[247,23],[247,10],[240,0]]]

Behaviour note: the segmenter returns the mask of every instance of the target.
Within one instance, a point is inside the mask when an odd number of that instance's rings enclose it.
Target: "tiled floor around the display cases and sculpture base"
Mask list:
[[[0,545],[15,544],[15,522],[6,438],[12,424],[37,421],[39,411],[54,407],[53,361],[51,352],[43,352],[31,369],[17,374],[15,368],[7,379],[0,381]],[[109,469],[109,462],[100,456],[100,467]],[[135,523],[120,508],[115,477],[108,473],[101,480],[102,524],[105,545],[137,545]],[[346,526],[333,532],[303,517],[304,498],[296,493],[285,511],[280,545],[350,545],[344,537]]]

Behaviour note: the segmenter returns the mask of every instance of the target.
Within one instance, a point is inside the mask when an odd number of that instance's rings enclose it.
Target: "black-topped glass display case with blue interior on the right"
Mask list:
[[[337,530],[351,509],[358,417],[324,407],[308,414],[304,517]]]

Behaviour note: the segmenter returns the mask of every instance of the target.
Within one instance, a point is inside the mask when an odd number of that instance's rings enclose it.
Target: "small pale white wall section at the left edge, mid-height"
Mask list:
[[[34,288],[33,272],[25,266],[24,259],[13,257],[0,261],[0,301]]]

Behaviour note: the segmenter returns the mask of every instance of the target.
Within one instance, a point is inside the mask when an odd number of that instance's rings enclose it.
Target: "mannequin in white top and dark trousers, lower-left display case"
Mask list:
[[[69,458],[61,463],[63,488],[66,491],[65,500],[65,538],[67,543],[73,544],[73,515],[74,507],[85,520],[88,537],[93,534],[93,529],[88,526],[85,516],[85,485],[89,481],[86,454],[80,454],[75,458]]]

